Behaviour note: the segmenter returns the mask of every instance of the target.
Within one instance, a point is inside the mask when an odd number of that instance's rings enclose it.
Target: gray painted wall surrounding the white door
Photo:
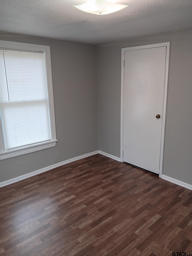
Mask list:
[[[99,149],[120,157],[121,48],[170,41],[163,174],[192,184],[192,30],[98,45]]]

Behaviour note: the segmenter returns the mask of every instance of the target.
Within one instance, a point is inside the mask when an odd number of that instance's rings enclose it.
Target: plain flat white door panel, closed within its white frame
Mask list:
[[[125,52],[123,161],[154,173],[160,169],[165,64],[166,47]]]

